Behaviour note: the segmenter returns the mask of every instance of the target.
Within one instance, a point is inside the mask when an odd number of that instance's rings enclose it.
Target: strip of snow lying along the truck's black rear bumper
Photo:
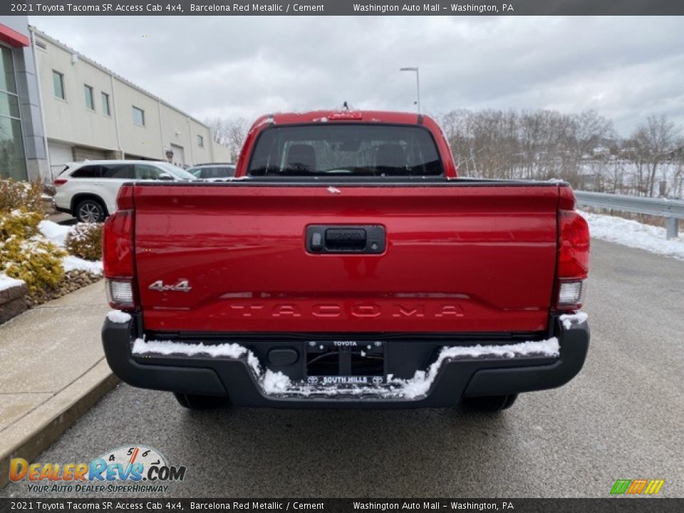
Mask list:
[[[586,315],[586,314],[585,314]],[[205,346],[202,343],[189,344],[174,341],[144,341],[138,338],[133,343],[133,354],[185,354],[194,356],[206,354],[208,356],[242,358],[247,357],[249,367],[254,371],[257,383],[269,395],[301,395],[309,396],[320,394],[323,396],[334,395],[373,395],[376,398],[405,398],[415,399],[425,395],[435,378],[440,372],[442,363],[451,358],[478,358],[482,356],[499,356],[502,358],[514,358],[516,356],[542,355],[549,357],[559,356],[560,346],[557,338],[549,338],[544,341],[529,341],[503,346],[457,346],[443,348],[437,361],[432,363],[427,371],[416,371],[411,379],[403,380],[388,375],[388,382],[378,385],[342,385],[316,387],[306,383],[294,383],[281,372],[274,373],[266,369],[261,371],[259,360],[252,351],[239,346],[236,343],[224,343],[216,346]]]

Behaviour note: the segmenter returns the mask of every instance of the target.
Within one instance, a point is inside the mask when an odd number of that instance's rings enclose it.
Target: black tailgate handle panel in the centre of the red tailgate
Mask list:
[[[385,251],[385,227],[312,225],[306,227],[310,253],[378,254]]]

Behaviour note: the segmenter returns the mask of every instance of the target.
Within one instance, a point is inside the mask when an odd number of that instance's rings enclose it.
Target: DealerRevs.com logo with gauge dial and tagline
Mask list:
[[[129,445],[90,463],[29,463],[13,458],[9,479],[25,481],[29,492],[167,492],[170,482],[185,479],[186,470],[168,465],[151,447]]]

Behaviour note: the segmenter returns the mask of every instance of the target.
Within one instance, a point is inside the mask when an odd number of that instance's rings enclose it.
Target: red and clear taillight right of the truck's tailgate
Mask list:
[[[589,225],[574,210],[559,211],[558,297],[559,310],[581,308],[589,274]]]

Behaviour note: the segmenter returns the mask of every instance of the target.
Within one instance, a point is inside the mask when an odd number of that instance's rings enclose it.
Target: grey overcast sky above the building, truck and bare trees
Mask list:
[[[197,118],[282,110],[594,109],[684,125],[683,17],[31,16]]]

